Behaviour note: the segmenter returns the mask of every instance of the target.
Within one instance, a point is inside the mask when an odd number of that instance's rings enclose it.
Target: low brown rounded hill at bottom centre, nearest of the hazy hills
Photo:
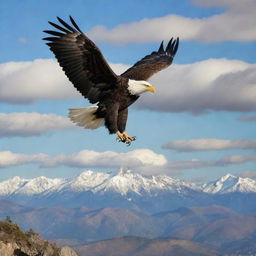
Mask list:
[[[122,237],[76,247],[86,256],[217,256],[216,251],[194,242],[179,239],[145,239]]]

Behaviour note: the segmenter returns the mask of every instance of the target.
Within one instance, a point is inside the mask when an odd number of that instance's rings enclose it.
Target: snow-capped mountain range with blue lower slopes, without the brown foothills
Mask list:
[[[30,206],[140,209],[150,214],[179,207],[222,205],[256,211],[256,181],[227,174],[203,185],[166,175],[84,171],[72,179],[14,177],[0,182],[0,199]],[[231,200],[232,199],[232,200]]]

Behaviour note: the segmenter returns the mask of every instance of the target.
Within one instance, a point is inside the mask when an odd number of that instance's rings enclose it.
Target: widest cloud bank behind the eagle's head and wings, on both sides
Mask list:
[[[111,66],[118,74],[128,68],[122,64]],[[256,65],[238,60],[172,65],[150,80],[157,94],[142,95],[136,106],[196,114],[207,110],[255,111],[255,81]],[[82,96],[53,60],[0,64],[0,102],[29,104],[38,99],[77,97]]]

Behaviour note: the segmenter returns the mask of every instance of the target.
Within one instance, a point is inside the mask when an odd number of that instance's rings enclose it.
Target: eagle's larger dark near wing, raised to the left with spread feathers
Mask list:
[[[106,90],[115,85],[117,75],[71,16],[73,26],[59,17],[57,19],[62,26],[49,21],[57,31],[44,30],[51,36],[43,39],[48,41],[46,44],[75,88],[91,103],[96,103]]]

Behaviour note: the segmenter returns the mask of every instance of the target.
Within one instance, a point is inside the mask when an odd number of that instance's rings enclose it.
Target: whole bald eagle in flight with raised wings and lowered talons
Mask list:
[[[70,16],[72,25],[57,17],[60,24],[49,21],[56,30],[44,30],[50,37],[43,38],[57,58],[74,87],[96,104],[87,108],[69,110],[69,118],[86,129],[96,129],[105,124],[110,134],[130,144],[135,137],[126,131],[128,107],[144,92],[156,89],[146,80],[171,65],[178,50],[179,38],[163,42],[158,51],[145,56],[121,75],[116,75],[99,48],[81,31]]]

